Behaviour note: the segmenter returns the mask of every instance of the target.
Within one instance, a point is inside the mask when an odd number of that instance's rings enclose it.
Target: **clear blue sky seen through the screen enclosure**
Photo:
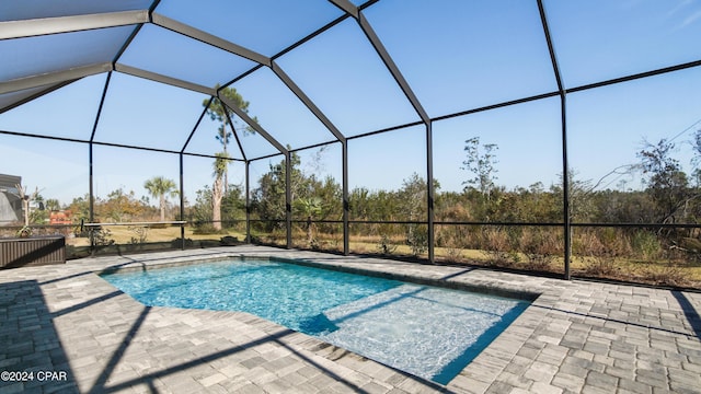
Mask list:
[[[133,3],[145,2],[124,2]],[[566,89],[701,59],[701,0],[543,3]],[[35,0],[27,7],[43,5],[48,13],[43,16],[50,16],[48,4]],[[3,10],[4,14],[21,18],[24,5],[14,7]],[[156,12],[266,56],[342,14],[320,0],[163,0]],[[558,89],[536,1],[380,0],[364,15],[432,118]],[[0,78],[100,61],[129,33],[130,28],[115,27],[71,33],[70,39],[54,35],[0,42]],[[68,49],[77,42],[89,50]],[[207,86],[254,66],[154,25],[141,31],[119,62]],[[420,120],[355,20],[345,20],[276,62],[350,137],[352,188],[397,189],[413,173],[426,176],[423,125],[352,138]],[[0,130],[88,140],[106,78],[84,78],[2,113]],[[234,88],[250,102],[249,114],[280,143],[297,149],[334,140],[268,68]],[[696,67],[567,94],[567,153],[575,176],[596,183],[612,170],[637,162],[644,141],[662,138],[675,138],[675,154],[690,172],[688,141],[701,128],[700,88],[701,68]],[[212,154],[221,150],[214,137],[218,125],[205,117],[195,129],[207,100],[200,93],[113,73],[95,140],[180,151],[194,129],[185,151]],[[497,184],[514,188],[556,183],[563,170],[560,107],[555,96],[434,121],[434,177],[440,189],[461,190],[466,179],[473,177],[461,169],[464,141],[472,137],[498,147]],[[258,135],[242,136],[241,142],[246,159],[276,153]],[[229,149],[234,158],[243,158],[238,148]],[[304,171],[341,183],[340,143],[299,154]],[[180,177],[175,154],[95,146],[93,158],[95,193],[102,197],[119,187],[145,195],[146,179]],[[254,161],[253,187],[271,163],[280,160]],[[0,173],[21,175],[30,189],[38,187],[46,198],[68,204],[88,193],[87,164],[84,144],[0,134]],[[211,159],[186,155],[183,176],[186,196],[194,200],[195,190],[211,185]],[[242,184],[243,179],[243,165],[233,164],[230,182]],[[610,188],[640,187],[640,177],[604,181],[601,185]]]

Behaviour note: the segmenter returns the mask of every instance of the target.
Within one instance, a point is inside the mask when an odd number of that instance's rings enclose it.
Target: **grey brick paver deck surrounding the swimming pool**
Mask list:
[[[443,386],[246,313],[145,306],[94,274],[229,255],[540,296]],[[0,393],[701,393],[700,313],[696,292],[261,246],[84,258],[0,271]]]

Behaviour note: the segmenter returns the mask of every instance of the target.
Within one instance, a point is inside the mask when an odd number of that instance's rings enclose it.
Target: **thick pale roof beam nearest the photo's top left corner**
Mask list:
[[[0,22],[0,39],[117,27],[149,22],[148,10]]]

